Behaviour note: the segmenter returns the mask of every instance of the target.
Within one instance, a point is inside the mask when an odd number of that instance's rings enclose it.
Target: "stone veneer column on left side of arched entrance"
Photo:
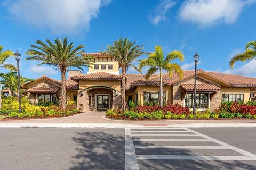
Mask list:
[[[82,112],[90,111],[89,97],[88,97],[87,90],[77,91],[77,109],[81,109],[81,104],[82,104]]]

